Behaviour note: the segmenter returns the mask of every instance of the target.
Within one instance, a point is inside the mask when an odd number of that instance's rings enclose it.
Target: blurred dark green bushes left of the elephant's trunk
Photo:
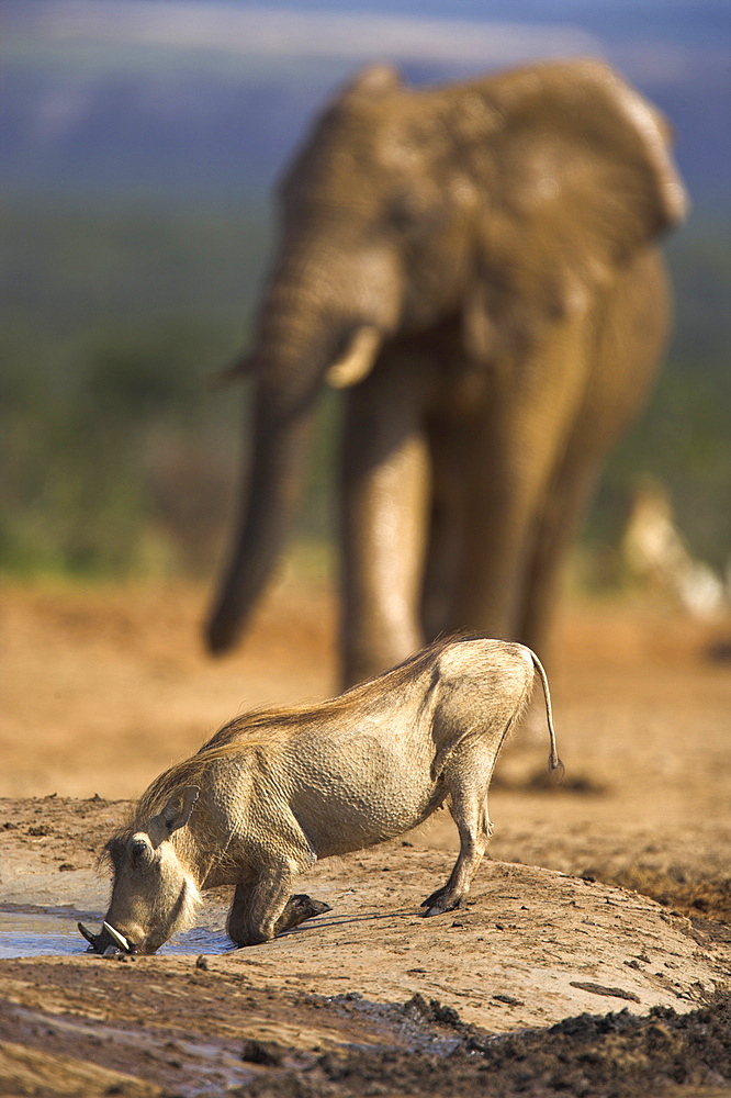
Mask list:
[[[205,389],[221,344],[220,329],[185,318],[104,326],[41,359],[34,340],[15,344],[0,412],[0,567],[100,575],[209,563],[239,418]]]

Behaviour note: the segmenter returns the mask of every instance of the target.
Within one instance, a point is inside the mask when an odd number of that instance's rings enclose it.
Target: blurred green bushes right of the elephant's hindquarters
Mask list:
[[[599,556],[616,545],[638,479],[668,490],[694,556],[731,563],[731,254],[728,222],[695,223],[667,249],[674,333],[651,401],[620,441],[585,531]]]

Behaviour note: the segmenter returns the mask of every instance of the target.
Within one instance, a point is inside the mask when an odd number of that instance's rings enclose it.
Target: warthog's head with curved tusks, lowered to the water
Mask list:
[[[94,934],[79,923],[92,952],[105,953],[112,948],[154,953],[190,925],[200,893],[170,837],[188,824],[198,794],[196,786],[183,786],[144,827],[110,839],[106,854],[114,879],[102,930]]]

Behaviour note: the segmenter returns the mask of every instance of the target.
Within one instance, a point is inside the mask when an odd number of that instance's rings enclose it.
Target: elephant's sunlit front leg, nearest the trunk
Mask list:
[[[348,394],[342,433],[344,685],[423,645],[419,621],[430,460],[423,399],[408,369],[382,359]]]

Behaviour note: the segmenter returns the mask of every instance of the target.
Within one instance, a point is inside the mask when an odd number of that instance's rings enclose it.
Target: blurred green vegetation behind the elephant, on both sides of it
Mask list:
[[[0,222],[0,569],[211,574],[235,505],[241,397],[210,379],[248,338],[266,204],[101,209],[24,197],[5,201]],[[676,336],[587,524],[599,556],[617,541],[634,479],[650,472],[693,550],[726,563],[731,261],[721,235],[691,223],[670,249]],[[310,539],[331,533],[337,408],[334,395],[323,401],[302,520]]]

